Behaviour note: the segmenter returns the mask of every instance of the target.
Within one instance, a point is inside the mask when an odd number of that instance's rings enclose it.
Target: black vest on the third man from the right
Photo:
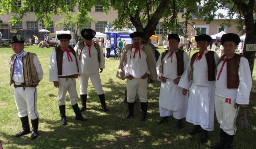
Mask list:
[[[169,50],[165,50],[162,54],[161,65],[160,65],[160,70],[159,70],[160,73],[163,73],[163,67],[164,67],[163,59],[168,52],[169,52]],[[178,51],[176,51],[175,54],[176,54],[176,58],[177,58],[177,74],[179,76],[181,76],[184,72],[184,57],[183,57],[184,51],[181,49],[178,49]]]

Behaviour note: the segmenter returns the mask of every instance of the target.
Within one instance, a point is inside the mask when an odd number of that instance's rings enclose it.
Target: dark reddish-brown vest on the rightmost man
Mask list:
[[[226,54],[224,54],[217,66],[222,62],[225,58]],[[238,88],[239,86],[239,64],[240,64],[241,55],[236,54],[233,58],[227,60],[227,88]],[[216,66],[216,73],[217,73]]]

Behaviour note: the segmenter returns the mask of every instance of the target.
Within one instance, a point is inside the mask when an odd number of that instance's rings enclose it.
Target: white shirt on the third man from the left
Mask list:
[[[78,48],[79,42],[75,45],[75,51]],[[100,47],[100,46],[99,46]],[[100,63],[98,62],[98,52],[94,46],[94,43],[91,45],[91,57],[89,56],[89,49],[87,45],[84,45],[81,56],[81,74],[96,74],[99,73],[99,68],[105,68],[105,59],[103,56],[102,48],[100,47]]]

